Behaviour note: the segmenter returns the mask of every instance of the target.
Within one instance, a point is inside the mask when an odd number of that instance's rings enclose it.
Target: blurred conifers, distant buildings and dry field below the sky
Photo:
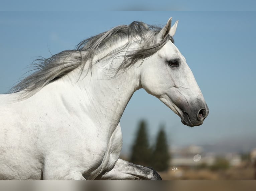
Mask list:
[[[256,148],[247,152],[224,143],[171,145],[165,126],[158,129],[150,144],[147,123],[141,120],[130,154],[120,158],[153,167],[163,180],[256,180]]]

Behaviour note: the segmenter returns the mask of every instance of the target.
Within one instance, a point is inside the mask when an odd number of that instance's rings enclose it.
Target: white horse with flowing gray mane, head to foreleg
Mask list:
[[[115,27],[76,50],[37,60],[38,70],[0,95],[0,179],[161,180],[119,159],[120,118],[144,88],[183,124],[201,125],[208,107],[175,47],[171,18]]]

